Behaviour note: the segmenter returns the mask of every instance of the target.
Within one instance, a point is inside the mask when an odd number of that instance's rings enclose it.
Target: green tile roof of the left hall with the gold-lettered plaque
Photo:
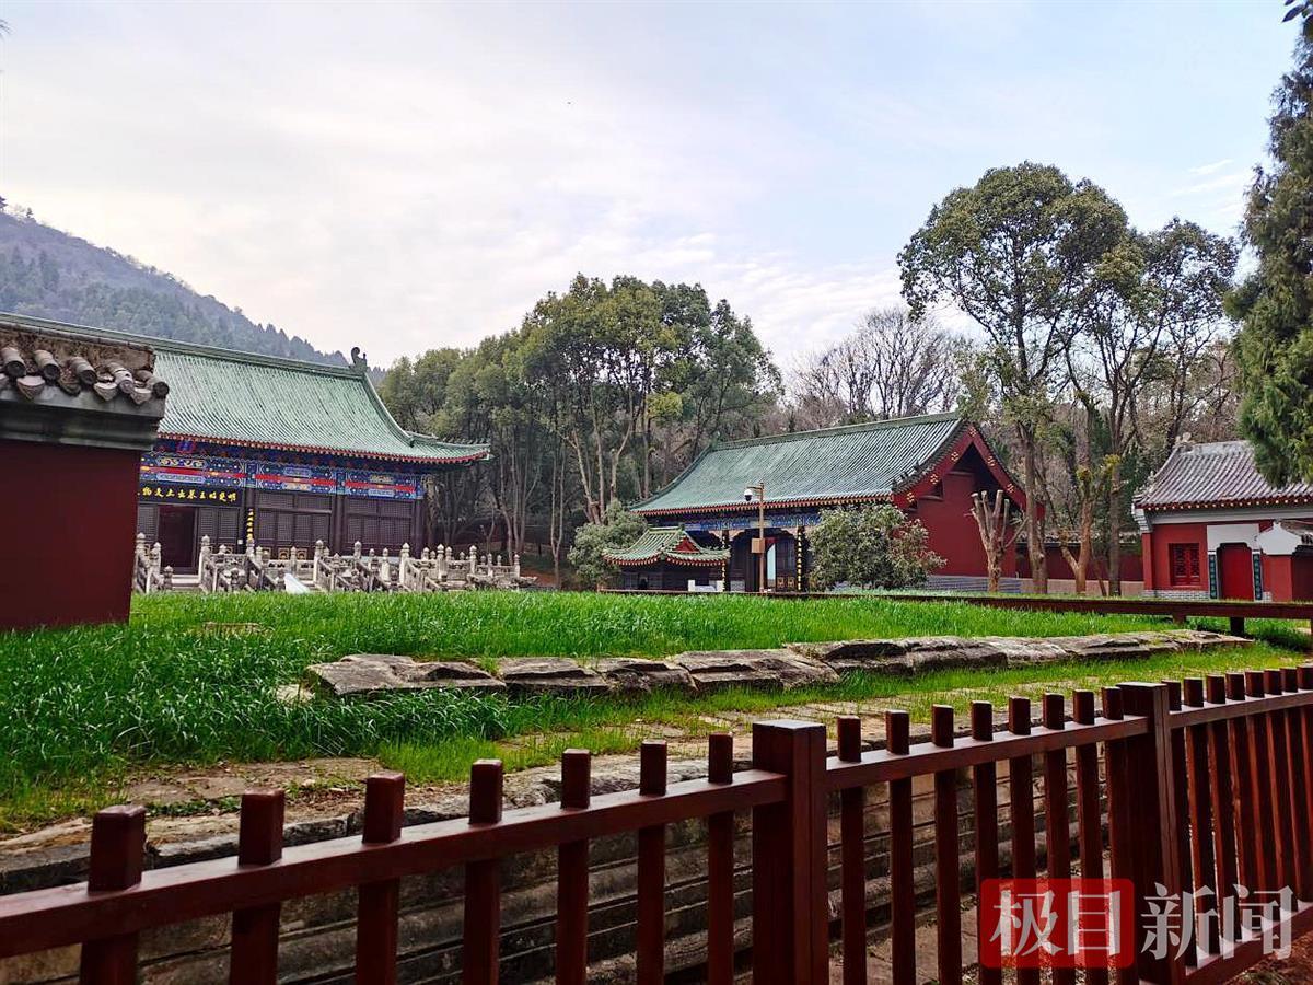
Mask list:
[[[5,319],[106,341],[146,344],[155,353],[155,374],[169,385],[161,437],[425,464],[488,456],[486,444],[444,441],[403,429],[362,368],[324,366],[17,315]]]

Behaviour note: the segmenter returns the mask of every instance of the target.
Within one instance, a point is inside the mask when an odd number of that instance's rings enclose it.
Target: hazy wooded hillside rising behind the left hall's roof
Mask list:
[[[117,328],[239,352],[343,364],[299,336],[257,324],[172,274],[0,210],[0,311]]]

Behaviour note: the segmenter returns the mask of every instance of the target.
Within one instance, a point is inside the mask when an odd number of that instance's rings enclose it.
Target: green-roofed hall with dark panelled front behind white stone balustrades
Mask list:
[[[257,356],[63,326],[18,315],[0,323],[144,347],[169,393],[159,436],[142,456],[138,531],[163,562],[194,571],[200,542],[274,557],[323,541],[332,552],[427,546],[424,478],[488,458],[486,444],[402,428],[352,365]],[[130,545],[125,550],[130,549]]]

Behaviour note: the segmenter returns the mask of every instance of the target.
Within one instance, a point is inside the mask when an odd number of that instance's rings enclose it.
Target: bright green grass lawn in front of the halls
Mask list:
[[[251,632],[228,632],[223,624],[255,625]],[[748,709],[759,703],[765,709],[780,700],[718,695],[689,703],[658,696],[635,707],[596,700],[512,703],[433,692],[370,703],[278,700],[277,687],[298,680],[306,665],[348,653],[481,662],[508,655],[587,659],[853,637],[1065,636],[1165,625],[1133,616],[876,598],[800,603],[751,596],[471,592],[138,599],[126,626],[0,634],[0,829],[113,799],[117,784],[144,766],[382,755],[399,767],[410,763],[424,776],[446,777],[507,735],[592,730],[597,745],[607,747],[620,742],[616,729],[645,714],[678,718],[723,701]],[[1300,645],[1292,632],[1278,629],[1283,625],[1263,632],[1278,644]],[[1258,658],[1279,659],[1280,653],[1262,647],[1246,654],[1246,666],[1255,666]],[[1137,666],[1137,674],[1152,670]],[[995,672],[989,676],[1006,679]],[[1025,676],[1039,679],[1041,672]],[[1125,678],[1116,670],[1108,679]],[[865,688],[878,696],[889,686],[855,678],[831,691],[860,696]],[[916,682],[916,690],[927,695],[951,686],[951,679],[937,676]],[[545,746],[538,758],[548,753]],[[533,755],[525,754],[521,764],[529,759]]]

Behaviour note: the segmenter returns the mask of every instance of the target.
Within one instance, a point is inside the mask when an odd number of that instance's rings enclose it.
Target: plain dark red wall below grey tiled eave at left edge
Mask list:
[[[0,629],[127,619],[140,454],[0,440]]]

